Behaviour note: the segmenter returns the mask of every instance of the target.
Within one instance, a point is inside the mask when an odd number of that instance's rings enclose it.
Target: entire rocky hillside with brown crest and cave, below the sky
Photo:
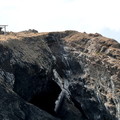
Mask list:
[[[120,120],[120,43],[77,31],[0,35],[0,120]]]

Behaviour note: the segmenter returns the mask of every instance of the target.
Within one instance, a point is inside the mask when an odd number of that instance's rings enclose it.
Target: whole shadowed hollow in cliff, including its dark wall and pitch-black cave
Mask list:
[[[46,75],[45,70],[35,65],[15,65],[14,69],[13,90],[27,102],[55,116],[55,101],[61,88],[52,80],[52,74]]]

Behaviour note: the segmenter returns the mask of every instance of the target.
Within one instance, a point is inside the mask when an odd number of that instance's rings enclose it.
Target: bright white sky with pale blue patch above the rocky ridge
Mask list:
[[[120,0],[0,0],[0,25],[7,31],[76,30],[120,42]]]

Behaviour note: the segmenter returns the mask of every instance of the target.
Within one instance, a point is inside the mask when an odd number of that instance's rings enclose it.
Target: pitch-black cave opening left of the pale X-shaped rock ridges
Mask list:
[[[55,101],[57,100],[60,92],[61,88],[59,87],[59,85],[55,81],[51,80],[48,82],[46,90],[33,95],[29,102],[39,107],[40,109],[43,109],[48,113],[57,116],[54,108]]]

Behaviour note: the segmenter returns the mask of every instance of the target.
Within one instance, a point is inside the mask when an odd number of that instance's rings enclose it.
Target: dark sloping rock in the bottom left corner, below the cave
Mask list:
[[[0,84],[0,120],[56,120]]]

